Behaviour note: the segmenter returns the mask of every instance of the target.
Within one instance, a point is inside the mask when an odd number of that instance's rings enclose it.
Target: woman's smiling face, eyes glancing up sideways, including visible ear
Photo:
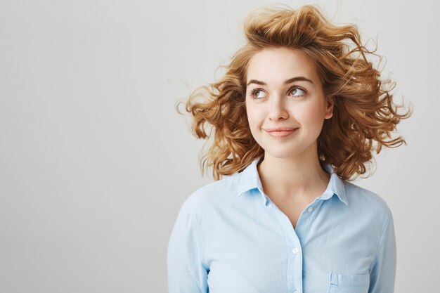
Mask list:
[[[266,155],[315,151],[324,119],[332,117],[313,61],[299,50],[267,48],[247,67],[246,111],[252,136]]]

